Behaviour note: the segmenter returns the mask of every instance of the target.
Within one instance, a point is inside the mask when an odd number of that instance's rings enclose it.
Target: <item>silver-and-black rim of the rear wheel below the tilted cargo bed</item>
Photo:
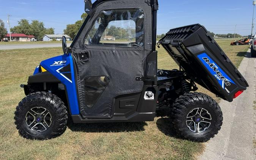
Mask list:
[[[212,123],[210,113],[204,108],[195,108],[191,110],[186,118],[186,125],[189,130],[196,133],[206,131]]]

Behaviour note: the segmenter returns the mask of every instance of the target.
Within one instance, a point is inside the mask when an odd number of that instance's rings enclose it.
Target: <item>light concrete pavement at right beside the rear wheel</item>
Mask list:
[[[239,71],[249,83],[249,88],[233,102],[221,100],[223,125],[220,132],[206,143],[201,160],[255,160],[253,137],[255,136],[256,58],[250,57],[250,49]]]

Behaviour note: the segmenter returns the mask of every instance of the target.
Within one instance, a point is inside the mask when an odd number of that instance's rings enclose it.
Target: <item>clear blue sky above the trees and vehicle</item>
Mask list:
[[[252,3],[252,0],[159,0],[157,34],[199,23],[216,34],[234,33],[237,25],[236,33],[250,35]],[[25,18],[30,22],[42,21],[46,28],[55,28],[55,34],[62,34],[66,25],[79,20],[83,12],[84,0],[0,0],[0,19],[6,28],[9,14],[11,27]]]

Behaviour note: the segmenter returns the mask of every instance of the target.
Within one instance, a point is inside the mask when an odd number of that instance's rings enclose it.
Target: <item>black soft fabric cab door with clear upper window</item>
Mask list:
[[[136,77],[144,77],[152,50],[151,6],[144,0],[99,2],[72,47],[83,118],[112,118],[115,97],[140,93],[144,83]]]

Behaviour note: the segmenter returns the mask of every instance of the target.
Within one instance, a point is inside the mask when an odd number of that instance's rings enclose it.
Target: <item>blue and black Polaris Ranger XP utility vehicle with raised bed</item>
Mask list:
[[[154,121],[156,110],[171,108],[181,138],[214,137],[222,113],[211,97],[193,92],[196,83],[229,102],[248,84],[199,24],[172,29],[157,43],[157,10],[157,0],[85,0],[88,16],[71,46],[63,38],[64,55],[42,61],[21,85],[26,97],[14,117],[20,135],[54,138],[68,121]],[[102,40],[107,36],[116,41]],[[156,45],[179,70],[157,69]]]

